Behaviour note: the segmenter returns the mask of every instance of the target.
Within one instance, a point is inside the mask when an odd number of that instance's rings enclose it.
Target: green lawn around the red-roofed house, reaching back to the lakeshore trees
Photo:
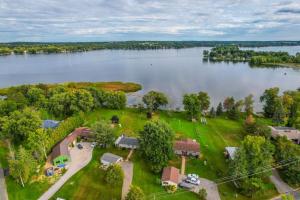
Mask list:
[[[97,120],[110,120],[113,115],[120,118],[122,127],[117,128],[117,133],[126,133],[126,135],[138,136],[139,130],[148,120],[145,113],[139,113],[134,109],[126,110],[98,110],[87,114],[87,125],[92,125]],[[224,148],[226,146],[239,146],[243,140],[244,132],[242,128],[243,121],[232,121],[225,118],[207,119],[207,125],[192,123],[186,120],[184,113],[160,112],[154,115],[155,119],[166,121],[176,133],[176,138],[193,138],[200,143],[201,158],[187,159],[186,173],[197,173],[201,177],[222,183],[220,178],[228,176],[228,161],[224,158]],[[206,160],[206,165],[204,165]],[[160,186],[160,175],[154,175],[148,169],[146,163],[138,155],[133,155],[134,177],[133,184],[140,186],[149,198],[156,199],[196,199],[196,195],[190,192],[179,191],[175,194],[167,194]],[[174,157],[170,165],[180,168],[180,158]],[[237,194],[236,188],[232,183],[221,184],[219,192],[222,199],[248,199],[245,196]],[[266,192],[256,199],[265,199],[276,194],[274,187],[270,186]],[[236,198],[237,195],[237,198]]]

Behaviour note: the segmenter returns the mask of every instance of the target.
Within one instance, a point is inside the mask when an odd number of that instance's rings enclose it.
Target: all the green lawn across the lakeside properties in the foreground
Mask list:
[[[118,135],[138,136],[147,122],[145,113],[140,113],[136,109],[125,110],[106,110],[100,109],[94,112],[86,113],[86,126],[91,126],[98,120],[110,120],[113,115],[120,118],[121,127],[116,127]],[[155,119],[164,120],[170,124],[176,133],[176,138],[192,138],[200,143],[201,158],[187,159],[186,173],[197,173],[201,177],[216,181],[222,177],[228,176],[228,162],[224,158],[224,147],[239,146],[243,139],[244,133],[243,121],[231,121],[223,117],[215,119],[208,118],[207,125],[192,123],[186,120],[184,113],[177,112],[159,112],[154,115]],[[263,121],[263,119],[261,119]],[[3,154],[3,148],[0,146],[0,155]],[[103,171],[99,168],[99,158],[104,152],[112,152],[117,155],[125,156],[128,151],[118,149],[100,150],[95,149],[92,162],[83,170],[75,174],[55,195],[65,199],[119,199],[121,195],[121,186],[109,187],[103,180]],[[2,156],[1,156],[2,157]],[[207,164],[204,165],[204,160]],[[2,163],[5,161],[0,160]],[[197,199],[197,196],[191,192],[183,190],[175,194],[167,194],[160,185],[160,174],[153,174],[147,163],[139,155],[138,151],[134,152],[132,161],[134,162],[133,184],[140,186],[148,199]],[[180,167],[180,158],[174,156],[170,165]],[[49,187],[47,183],[34,183],[21,188],[12,179],[8,180],[8,192],[10,199],[35,199]],[[237,190],[232,183],[219,185],[221,198],[224,200],[238,199],[247,200],[245,196],[236,193]],[[268,199],[276,195],[276,190],[270,184],[269,189],[263,195],[256,199]],[[155,197],[154,197],[155,196]],[[24,199],[23,198],[23,199]]]

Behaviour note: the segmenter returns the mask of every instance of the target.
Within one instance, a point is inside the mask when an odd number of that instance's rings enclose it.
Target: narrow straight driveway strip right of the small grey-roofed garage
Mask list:
[[[122,186],[122,199],[125,199],[132,182],[133,177],[133,164],[132,162],[122,162],[121,163],[122,169],[124,171],[124,180],[123,180],[123,186]]]

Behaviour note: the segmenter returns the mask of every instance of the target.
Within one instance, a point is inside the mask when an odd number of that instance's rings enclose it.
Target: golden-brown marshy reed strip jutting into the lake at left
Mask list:
[[[37,85],[37,84],[33,84]],[[65,86],[67,88],[87,88],[95,87],[105,91],[122,91],[126,93],[137,92],[142,89],[142,86],[137,83],[131,82],[65,82],[65,83],[53,83],[53,84],[43,84],[44,87],[55,88],[58,86]],[[8,90],[14,87],[0,88],[0,95],[6,95]]]

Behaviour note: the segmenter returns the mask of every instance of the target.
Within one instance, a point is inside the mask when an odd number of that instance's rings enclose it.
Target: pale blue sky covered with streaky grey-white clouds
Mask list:
[[[0,0],[0,42],[300,40],[300,0]]]

